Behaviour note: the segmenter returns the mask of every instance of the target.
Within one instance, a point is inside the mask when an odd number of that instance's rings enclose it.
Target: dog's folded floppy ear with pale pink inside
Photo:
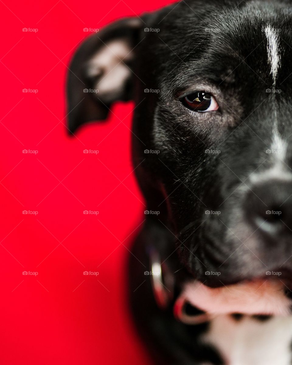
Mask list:
[[[125,18],[92,35],[77,49],[67,81],[68,129],[106,119],[114,101],[132,97],[131,65],[139,43],[140,18]]]

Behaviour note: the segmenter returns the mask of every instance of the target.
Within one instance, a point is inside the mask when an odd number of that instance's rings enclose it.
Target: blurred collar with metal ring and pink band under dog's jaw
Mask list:
[[[173,305],[174,317],[185,324],[200,324],[218,315],[233,313],[291,315],[292,300],[285,295],[285,284],[281,280],[255,278],[218,288],[192,280],[178,288],[174,275],[154,248],[150,250],[150,267],[158,307],[166,309]]]

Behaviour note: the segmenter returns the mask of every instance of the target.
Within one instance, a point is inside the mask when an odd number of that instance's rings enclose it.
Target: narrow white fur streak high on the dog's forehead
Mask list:
[[[264,28],[266,38],[268,40],[268,59],[271,67],[271,74],[273,77],[273,85],[276,84],[277,72],[280,67],[280,47],[279,36],[275,29],[269,24]]]

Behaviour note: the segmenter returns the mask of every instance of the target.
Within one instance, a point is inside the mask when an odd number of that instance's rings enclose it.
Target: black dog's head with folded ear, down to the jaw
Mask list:
[[[97,33],[70,66],[72,131],[135,100],[142,190],[150,208],[164,201],[180,260],[207,285],[292,270],[287,3],[184,1]]]

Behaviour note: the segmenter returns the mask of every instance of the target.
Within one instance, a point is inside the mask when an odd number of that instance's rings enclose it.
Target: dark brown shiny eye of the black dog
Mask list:
[[[186,107],[197,112],[209,112],[219,108],[214,96],[204,91],[191,93],[181,101]]]

